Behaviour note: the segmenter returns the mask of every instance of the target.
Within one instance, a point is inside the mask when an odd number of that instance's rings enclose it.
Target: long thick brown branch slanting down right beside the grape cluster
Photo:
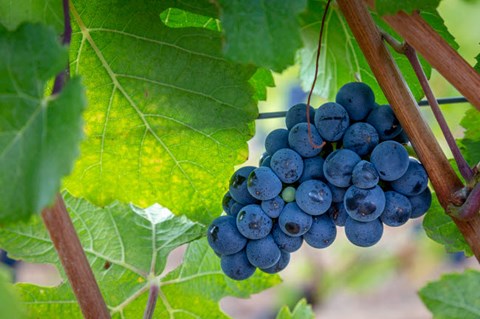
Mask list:
[[[432,131],[422,119],[417,103],[385,47],[363,0],[337,0],[337,3],[385,97],[425,166],[441,205],[446,209],[453,194],[463,188],[462,182],[450,166]],[[453,220],[480,260],[480,217],[468,222]]]

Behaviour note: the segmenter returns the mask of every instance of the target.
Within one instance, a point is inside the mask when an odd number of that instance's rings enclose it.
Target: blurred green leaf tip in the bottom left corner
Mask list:
[[[17,291],[11,284],[10,273],[0,267],[0,318],[23,319],[26,318],[25,310],[20,302]]]

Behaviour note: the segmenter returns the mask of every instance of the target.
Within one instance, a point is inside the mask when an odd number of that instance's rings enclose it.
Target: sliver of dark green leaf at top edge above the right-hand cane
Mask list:
[[[382,16],[395,14],[398,11],[410,14],[416,10],[436,10],[439,4],[440,0],[375,0],[375,10]]]

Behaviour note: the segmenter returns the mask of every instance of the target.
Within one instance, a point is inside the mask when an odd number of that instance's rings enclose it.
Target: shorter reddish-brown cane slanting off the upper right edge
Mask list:
[[[372,0],[366,2],[373,8]],[[409,15],[400,11],[382,18],[480,110],[480,74],[450,47],[418,12]]]

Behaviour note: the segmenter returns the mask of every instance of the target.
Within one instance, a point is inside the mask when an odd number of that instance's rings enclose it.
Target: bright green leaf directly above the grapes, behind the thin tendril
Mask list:
[[[306,91],[310,90],[315,74],[318,33],[324,10],[325,1],[310,0],[307,12],[301,15],[305,47],[299,50],[297,58],[300,62],[302,87]],[[375,14],[372,15],[380,28],[397,37],[382,19]],[[314,93],[334,100],[342,85],[362,81],[372,88],[377,103],[388,103],[340,10],[334,6],[330,7],[325,23]],[[408,59],[392,49],[390,52],[413,96],[420,100],[423,97],[423,90]],[[423,59],[421,61],[427,77],[430,77],[431,67]]]

